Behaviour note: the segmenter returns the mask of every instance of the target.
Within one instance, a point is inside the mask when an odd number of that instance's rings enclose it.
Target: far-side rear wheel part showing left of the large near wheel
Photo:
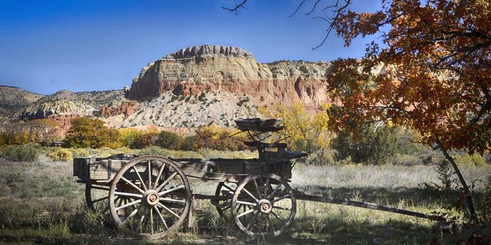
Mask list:
[[[101,216],[105,223],[110,223],[109,186],[87,183],[85,194],[88,209]]]

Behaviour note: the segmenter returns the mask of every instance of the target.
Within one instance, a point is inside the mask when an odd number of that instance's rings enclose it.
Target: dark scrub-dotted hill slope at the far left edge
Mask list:
[[[0,120],[6,122],[14,118],[19,111],[43,97],[42,94],[28,92],[20,87],[0,85]]]

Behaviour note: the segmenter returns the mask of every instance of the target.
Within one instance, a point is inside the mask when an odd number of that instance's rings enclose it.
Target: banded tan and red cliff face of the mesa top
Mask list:
[[[237,47],[201,45],[184,48],[149,63],[133,79],[128,99],[142,101],[166,91],[177,95],[224,90],[262,97],[264,103],[300,99],[307,106],[326,102],[327,62],[257,62]]]

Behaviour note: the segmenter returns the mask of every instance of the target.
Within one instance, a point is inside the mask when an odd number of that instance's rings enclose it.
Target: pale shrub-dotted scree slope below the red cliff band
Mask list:
[[[187,96],[163,92],[159,97],[140,102],[139,108],[129,116],[120,113],[105,121],[112,127],[200,127],[211,123],[235,127],[234,119],[260,116],[256,99],[247,94],[217,90]]]

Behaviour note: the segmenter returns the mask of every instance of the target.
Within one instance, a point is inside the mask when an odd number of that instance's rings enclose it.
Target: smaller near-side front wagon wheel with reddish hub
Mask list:
[[[232,216],[250,236],[280,235],[292,223],[297,204],[292,188],[276,174],[255,174],[238,184]]]

